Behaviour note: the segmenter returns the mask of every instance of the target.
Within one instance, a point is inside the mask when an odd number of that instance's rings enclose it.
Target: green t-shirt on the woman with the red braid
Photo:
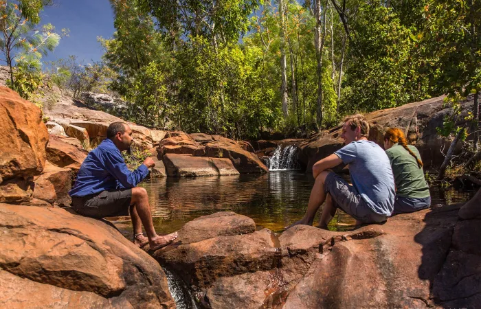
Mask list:
[[[421,155],[416,147],[411,145],[407,147],[421,160]],[[418,167],[416,159],[399,144],[394,144],[385,152],[391,162],[394,183],[396,183],[396,195],[410,198],[429,196],[429,187],[424,179],[423,168]]]

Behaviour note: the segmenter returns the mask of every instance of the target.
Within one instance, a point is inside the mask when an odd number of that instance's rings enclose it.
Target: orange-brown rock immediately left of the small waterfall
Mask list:
[[[232,161],[240,173],[267,172],[267,167],[252,152],[247,152],[236,144],[221,144],[218,142],[205,144],[207,157],[221,157]]]

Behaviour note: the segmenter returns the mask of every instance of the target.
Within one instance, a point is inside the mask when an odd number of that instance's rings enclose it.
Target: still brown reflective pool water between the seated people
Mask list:
[[[234,211],[252,218],[258,229],[279,232],[304,215],[314,179],[310,173],[297,171],[267,174],[240,174],[197,178],[146,179],[142,182],[152,208],[157,233],[177,231],[186,222],[213,214]],[[431,188],[432,207],[469,200],[472,192],[452,188]],[[319,219],[317,211],[315,222]],[[115,225],[131,238],[129,217],[113,218]],[[337,211],[330,229],[353,229],[355,220]]]

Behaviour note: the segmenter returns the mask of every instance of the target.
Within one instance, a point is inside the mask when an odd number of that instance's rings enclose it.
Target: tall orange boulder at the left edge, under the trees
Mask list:
[[[47,127],[40,108],[0,87],[0,178],[38,175],[45,166]]]

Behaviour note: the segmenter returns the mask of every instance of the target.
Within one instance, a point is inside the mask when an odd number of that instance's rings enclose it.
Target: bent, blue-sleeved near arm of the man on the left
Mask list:
[[[126,189],[135,187],[148,175],[148,167],[144,163],[131,172],[121,155],[111,152],[104,152],[103,155],[107,171]]]

